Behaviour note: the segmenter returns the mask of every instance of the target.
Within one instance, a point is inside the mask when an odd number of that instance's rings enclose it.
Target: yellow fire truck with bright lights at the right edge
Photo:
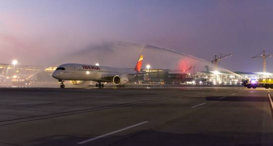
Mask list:
[[[264,87],[265,89],[273,89],[273,79],[271,78],[262,78],[262,79],[244,79],[242,80],[242,85],[248,89],[257,87]]]

